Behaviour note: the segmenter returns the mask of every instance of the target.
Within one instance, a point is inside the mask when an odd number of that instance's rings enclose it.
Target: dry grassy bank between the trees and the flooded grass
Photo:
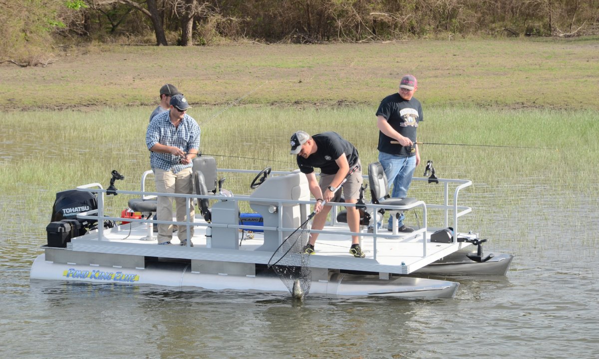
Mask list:
[[[599,108],[599,38],[153,47],[96,45],[46,68],[0,65],[0,109],[152,105],[173,83],[193,105],[376,106],[401,75],[428,107]]]

